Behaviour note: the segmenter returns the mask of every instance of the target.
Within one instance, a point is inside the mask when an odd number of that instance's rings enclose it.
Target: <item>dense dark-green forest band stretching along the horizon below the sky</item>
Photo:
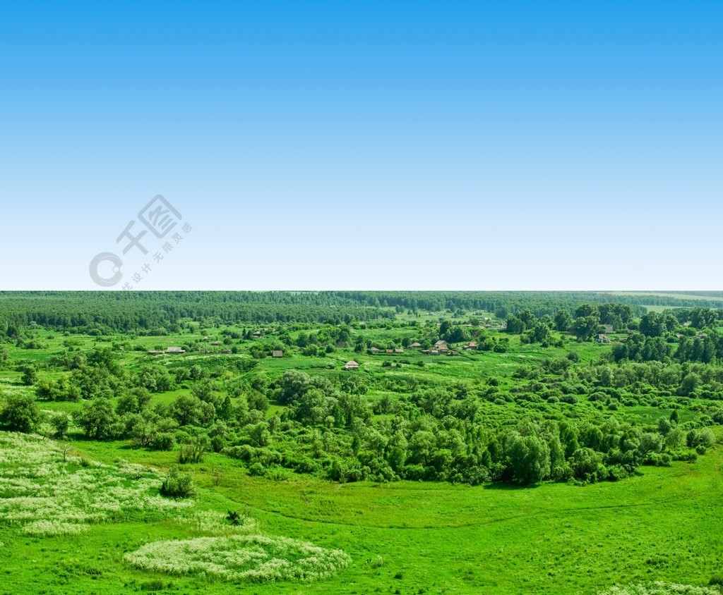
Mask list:
[[[521,310],[531,310],[536,317],[553,316],[561,309],[574,311],[581,303],[627,303],[641,316],[643,302],[677,307],[708,304],[708,300],[601,292],[0,292],[0,336],[16,336],[33,323],[56,330],[152,334],[178,331],[183,321],[335,324],[392,319],[401,312],[474,310],[505,319]]]

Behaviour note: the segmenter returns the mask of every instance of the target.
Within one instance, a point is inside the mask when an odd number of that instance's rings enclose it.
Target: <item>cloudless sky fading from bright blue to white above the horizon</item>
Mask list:
[[[722,30],[719,0],[5,1],[0,288],[99,289],[111,252],[114,289],[719,290]],[[157,194],[183,239],[123,255]]]

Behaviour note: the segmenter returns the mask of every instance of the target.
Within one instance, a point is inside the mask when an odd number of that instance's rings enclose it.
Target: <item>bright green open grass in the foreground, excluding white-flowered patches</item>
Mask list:
[[[74,446],[105,461],[173,462],[171,453],[123,443]],[[593,594],[614,583],[705,584],[719,573],[722,464],[718,448],[696,464],[646,467],[623,482],[534,489],[335,485],[295,475],[275,482],[215,455],[189,469],[202,508],[247,511],[269,534],[341,548],[353,560],[328,581],[244,587],[249,592]],[[125,552],[146,542],[186,537],[169,521],[92,526],[82,539],[20,537],[0,527],[9,546],[3,583],[13,594],[123,593],[151,580],[173,583],[169,593],[228,592],[226,583],[122,563]]]

